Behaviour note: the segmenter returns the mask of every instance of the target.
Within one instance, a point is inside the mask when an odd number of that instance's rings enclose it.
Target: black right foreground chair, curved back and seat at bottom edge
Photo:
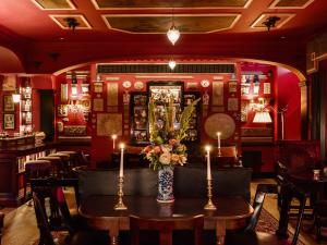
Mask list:
[[[300,225],[303,218],[305,195],[293,185],[287,184],[281,189],[281,209],[278,230],[276,234],[268,234],[264,232],[255,232],[253,230],[246,230],[242,233],[232,233],[226,236],[226,245],[295,245],[298,242]],[[289,210],[292,199],[295,198],[299,201],[298,218],[294,235],[291,242],[288,242],[288,224],[289,224]]]

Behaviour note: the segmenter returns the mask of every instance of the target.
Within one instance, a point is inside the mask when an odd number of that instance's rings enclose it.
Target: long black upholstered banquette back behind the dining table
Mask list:
[[[118,169],[76,168],[81,199],[89,195],[117,195]],[[252,170],[247,168],[215,169],[214,196],[239,195],[250,200]],[[124,170],[124,195],[156,196],[157,172],[148,168]],[[175,167],[174,197],[206,197],[206,168]]]

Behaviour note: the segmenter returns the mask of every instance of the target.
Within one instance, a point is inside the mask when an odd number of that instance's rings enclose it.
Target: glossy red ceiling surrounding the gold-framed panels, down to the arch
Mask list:
[[[0,46],[13,50],[27,73],[53,73],[99,60],[166,60],[171,54],[180,60],[262,59],[304,70],[306,41],[327,26],[326,0],[315,0],[304,9],[269,9],[274,0],[252,0],[245,9],[179,8],[173,10],[175,15],[237,13],[241,16],[230,29],[210,34],[182,33],[172,47],[165,34],[126,34],[109,29],[101,17],[102,14],[171,14],[171,9],[97,10],[92,0],[72,2],[75,10],[41,10],[32,0],[1,0]],[[270,32],[251,28],[262,14],[267,13],[295,15]],[[51,14],[83,14],[92,28],[62,29]],[[57,60],[50,56],[53,52],[59,54]]]

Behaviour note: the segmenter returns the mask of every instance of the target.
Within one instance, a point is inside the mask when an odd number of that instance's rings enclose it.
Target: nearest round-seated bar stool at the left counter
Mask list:
[[[27,184],[31,184],[31,179],[48,177],[51,175],[51,162],[48,160],[32,160],[25,162],[24,200],[26,199]]]

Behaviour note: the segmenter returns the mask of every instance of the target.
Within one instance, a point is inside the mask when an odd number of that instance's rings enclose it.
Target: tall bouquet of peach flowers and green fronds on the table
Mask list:
[[[198,100],[199,98],[184,108],[177,122],[173,97],[170,97],[168,105],[167,102],[160,103],[160,113],[156,113],[158,101],[150,97],[148,102],[150,145],[143,149],[145,158],[150,162],[150,168],[158,170],[165,166],[173,167],[186,163],[186,146],[182,140],[186,136],[190,120]]]

